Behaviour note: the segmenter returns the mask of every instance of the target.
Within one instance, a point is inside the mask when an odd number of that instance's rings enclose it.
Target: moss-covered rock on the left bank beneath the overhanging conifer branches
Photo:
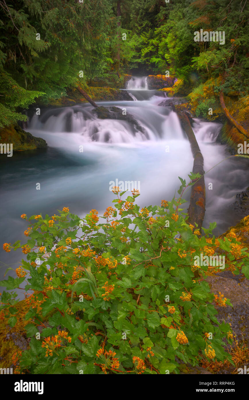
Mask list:
[[[25,132],[19,125],[0,128],[0,142],[12,143],[13,151],[47,148],[47,143],[44,139],[36,138],[30,132]]]

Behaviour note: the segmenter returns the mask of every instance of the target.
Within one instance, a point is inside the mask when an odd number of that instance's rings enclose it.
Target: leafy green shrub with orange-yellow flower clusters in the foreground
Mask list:
[[[217,322],[211,304],[230,302],[204,280],[219,266],[196,265],[194,256],[225,254],[225,268],[235,274],[242,268],[248,277],[248,252],[236,237],[215,239],[215,223],[204,236],[187,223],[181,182],[180,198],[161,206],[140,210],[138,192],[122,200],[125,192],[115,188],[116,209],[108,207],[103,217],[91,210],[80,219],[67,207],[53,217],[22,214],[30,239],[4,248],[22,248],[27,261],[17,278],[0,282],[8,290],[25,282],[32,293],[25,299],[31,340],[19,355],[21,372],[165,374],[179,373],[176,357],[192,365],[205,357],[230,360],[223,338],[232,342],[231,328]],[[0,307],[12,327],[15,298],[3,292]]]

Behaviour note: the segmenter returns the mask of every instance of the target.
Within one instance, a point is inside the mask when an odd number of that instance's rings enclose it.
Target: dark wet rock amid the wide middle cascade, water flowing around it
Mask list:
[[[119,107],[99,106],[97,108],[94,108],[93,112],[97,114],[98,118],[101,119],[122,120],[129,122],[134,126],[136,131],[142,132],[145,136],[147,136],[144,128],[140,124],[138,124],[138,122],[134,119],[134,117],[128,112],[126,113],[126,115],[123,115],[123,110],[121,110],[121,108]]]

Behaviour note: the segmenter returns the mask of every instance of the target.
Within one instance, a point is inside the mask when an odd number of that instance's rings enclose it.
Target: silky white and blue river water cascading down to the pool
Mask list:
[[[14,155],[3,166],[2,243],[18,239],[26,242],[26,222],[20,218],[23,213],[53,215],[67,206],[81,217],[92,208],[103,215],[115,198],[109,182],[116,179],[140,182],[140,206],[160,205],[162,199],[172,200],[175,192],[178,196],[178,176],[188,182],[193,168],[190,144],[178,117],[170,107],[158,105],[166,100],[164,93],[147,90],[145,77],[133,77],[127,91],[136,101],[97,104],[126,109],[146,134],[136,132],[126,121],[97,118],[89,104],[49,108],[32,117],[27,131],[45,139],[49,148],[25,156]],[[215,142],[220,129],[221,124],[195,119],[193,130],[204,156],[205,171],[229,156],[225,146]],[[233,203],[236,194],[248,186],[247,167],[247,160],[230,158],[205,176],[203,226],[216,221],[215,234],[223,233],[240,218],[235,215]],[[40,190],[36,190],[38,182]],[[212,190],[208,190],[209,183]],[[2,252],[0,260],[15,269],[22,255],[18,251]],[[7,266],[2,264],[1,279]]]

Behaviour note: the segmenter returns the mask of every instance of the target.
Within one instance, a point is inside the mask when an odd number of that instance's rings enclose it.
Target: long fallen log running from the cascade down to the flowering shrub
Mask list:
[[[174,111],[176,111],[174,109]],[[192,130],[190,125],[190,121],[188,119],[188,115],[185,111],[177,112],[177,115],[182,124],[182,128],[186,132],[188,136],[188,140],[190,142],[192,154],[194,157],[194,165],[193,165],[193,173],[199,173],[201,178],[194,183],[191,190],[190,196],[190,205],[188,208],[188,223],[194,226],[196,229],[196,225],[198,229],[202,228],[202,222],[204,220],[205,215],[205,206],[206,206],[206,190],[205,190],[205,181],[204,181],[204,159],[202,153],[200,151],[199,145],[196,140],[196,136]]]

